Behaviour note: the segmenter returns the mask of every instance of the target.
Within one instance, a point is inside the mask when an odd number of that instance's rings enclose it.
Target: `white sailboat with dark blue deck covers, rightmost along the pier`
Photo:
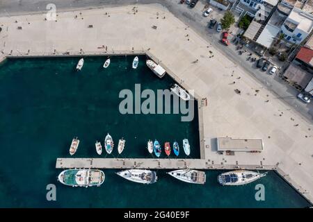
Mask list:
[[[264,176],[266,176],[266,173],[244,170],[230,171],[227,173],[221,173],[218,176],[218,183],[220,185],[230,186],[246,185]]]

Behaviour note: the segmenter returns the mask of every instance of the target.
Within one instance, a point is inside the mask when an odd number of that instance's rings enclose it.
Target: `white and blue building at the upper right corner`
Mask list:
[[[300,44],[313,28],[313,15],[293,8],[281,27],[285,40]]]

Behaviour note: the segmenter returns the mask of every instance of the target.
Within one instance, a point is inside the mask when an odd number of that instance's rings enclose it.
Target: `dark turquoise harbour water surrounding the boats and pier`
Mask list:
[[[56,157],[70,157],[72,138],[81,140],[74,157],[99,157],[95,141],[103,143],[106,133],[115,140],[126,139],[120,157],[152,157],[147,139],[182,146],[189,139],[191,157],[200,157],[198,114],[191,122],[179,114],[131,114],[118,111],[122,89],[168,89],[174,81],[157,78],[139,57],[131,69],[132,56],[87,57],[83,69],[75,71],[79,58],[12,59],[0,66],[0,207],[307,207],[309,204],[276,173],[243,187],[220,187],[207,171],[204,186],[179,182],[157,171],[159,181],[139,185],[104,170],[102,187],[72,188],[56,177]],[[196,104],[195,104],[196,107]],[[181,147],[182,148],[182,147]],[[164,152],[161,157],[165,157]],[[173,157],[173,156],[172,156]],[[185,157],[180,155],[180,157]],[[255,185],[265,187],[264,201],[255,200]],[[46,200],[46,186],[56,185],[56,201]]]

